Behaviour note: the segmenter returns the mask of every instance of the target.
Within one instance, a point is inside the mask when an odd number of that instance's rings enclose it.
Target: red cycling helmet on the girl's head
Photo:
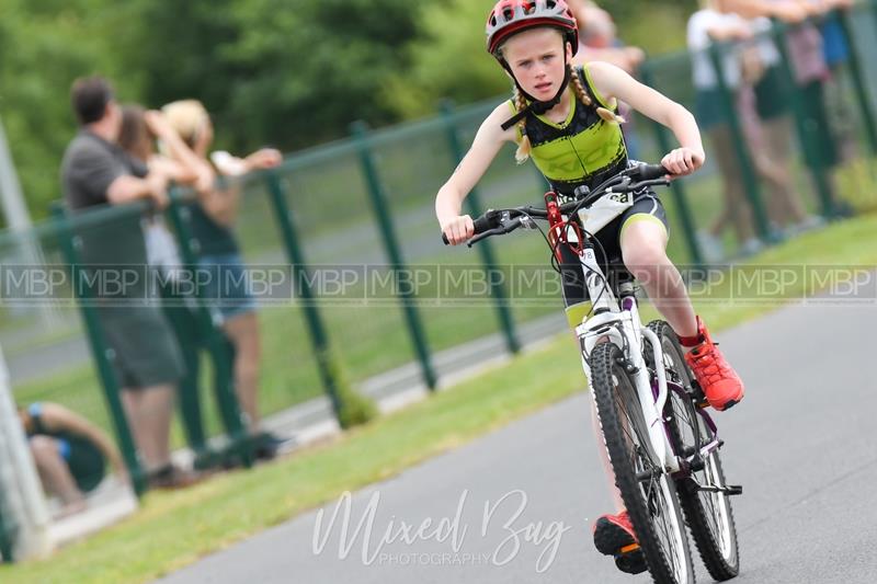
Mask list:
[[[576,16],[563,0],[499,0],[487,18],[487,50],[500,61],[499,47],[512,35],[534,26],[560,28],[572,54],[579,49]]]

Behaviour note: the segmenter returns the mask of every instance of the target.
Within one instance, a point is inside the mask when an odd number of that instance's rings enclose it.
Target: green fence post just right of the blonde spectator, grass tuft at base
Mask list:
[[[332,411],[342,428],[367,422],[374,415],[374,410],[364,397],[345,391],[344,381],[340,379],[340,364],[332,354],[329,335],[326,332],[322,317],[316,305],[316,295],[311,288],[310,273],[305,261],[305,254],[299,244],[298,233],[293,221],[289,205],[286,202],[285,187],[276,172],[269,172],[265,176],[274,216],[283,238],[286,257],[292,264],[293,282],[297,283],[301,295],[301,308],[305,311],[305,321],[308,325],[310,347],[317,360],[320,380],[329,396]],[[364,408],[364,409],[363,409]]]

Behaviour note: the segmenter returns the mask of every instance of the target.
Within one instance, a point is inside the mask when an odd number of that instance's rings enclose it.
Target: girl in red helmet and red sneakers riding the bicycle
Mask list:
[[[435,213],[452,244],[475,234],[471,217],[460,215],[463,201],[505,142],[517,144],[519,163],[532,158],[561,197],[574,196],[582,185],[593,188],[625,170],[628,157],[618,101],[673,131],[681,146],[661,161],[672,175],[691,174],[703,165],[704,148],[691,113],[612,65],[577,62],[578,46],[576,19],[563,0],[500,0],[493,7],[487,48],[512,78],[514,96],[485,119],[470,150],[438,191]],[[738,403],[743,383],[695,314],[682,277],[667,256],[668,224],[657,195],[650,190],[637,193],[633,206],[594,237],[601,264],[623,262],[676,332],[709,404],[726,410]],[[563,300],[574,327],[588,312],[588,291],[574,250],[560,245],[559,252]],[[636,535],[616,489],[613,495],[617,514],[597,519],[594,542],[602,553],[618,559],[636,552]],[[645,561],[616,563],[630,572],[646,570]]]

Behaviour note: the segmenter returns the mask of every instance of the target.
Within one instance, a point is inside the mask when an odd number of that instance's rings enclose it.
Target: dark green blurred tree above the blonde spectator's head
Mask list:
[[[137,0],[127,53],[148,73],[148,103],[197,98],[220,144],[292,149],[345,136],[356,118],[396,118],[381,88],[407,67],[400,49],[429,3],[202,0],[167,10]]]

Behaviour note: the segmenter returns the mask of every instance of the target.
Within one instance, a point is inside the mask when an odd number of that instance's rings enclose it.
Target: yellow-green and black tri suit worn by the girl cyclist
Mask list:
[[[610,111],[615,108],[591,82],[586,66],[578,67],[576,72],[594,105],[581,103],[570,88],[566,96],[570,101],[566,121],[557,124],[542,115],[525,118],[526,135],[532,145],[531,158],[561,201],[572,196],[578,186],[594,188],[630,164],[622,127],[604,121],[596,112],[597,106]],[[516,113],[514,102],[510,100],[508,103],[511,112]],[[520,127],[517,133],[521,139]],[[620,238],[625,228],[636,221],[654,221],[668,230],[663,205],[653,191],[636,193],[631,207],[593,233],[600,243],[595,249],[597,261],[607,274],[624,272]],[[578,257],[566,245],[561,245],[561,255],[563,300],[570,324],[574,327],[590,309],[588,288]]]

